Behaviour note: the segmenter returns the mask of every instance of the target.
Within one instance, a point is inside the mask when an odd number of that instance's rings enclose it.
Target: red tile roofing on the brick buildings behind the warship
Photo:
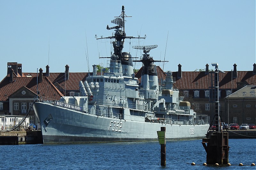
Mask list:
[[[157,66],[156,67],[158,79],[165,79],[164,71]],[[136,73],[135,77],[141,77],[142,68]],[[100,73],[97,73],[100,75]],[[175,79],[174,86],[180,90],[184,89],[209,89],[211,86],[211,74],[205,74],[205,71],[182,71],[182,78],[177,78],[178,72],[172,72],[172,76]],[[91,73],[92,75],[92,73]],[[17,76],[17,77],[16,77]],[[0,101],[5,101],[7,98],[15,91],[20,89],[20,87],[25,86],[32,92],[36,93],[36,82],[37,73],[22,73],[20,75],[13,76],[13,82],[9,82],[10,74],[8,74],[0,82]],[[30,77],[31,76],[31,77]],[[64,92],[60,92],[56,87],[55,83],[58,83],[63,89],[66,86],[67,91],[77,91],[79,90],[79,81],[84,81],[88,76],[88,72],[69,72],[69,78],[65,81],[65,73],[50,73],[48,77],[45,77],[43,73],[43,81],[38,84],[38,89],[41,95],[49,97],[55,100],[59,100],[63,96]],[[220,89],[231,89],[231,71],[225,71],[225,73],[219,73],[219,87]],[[232,80],[232,88],[237,88],[237,82],[246,81],[249,85],[256,85],[256,75],[252,74],[252,71],[237,71],[237,78]],[[159,82],[160,83],[160,82]]]

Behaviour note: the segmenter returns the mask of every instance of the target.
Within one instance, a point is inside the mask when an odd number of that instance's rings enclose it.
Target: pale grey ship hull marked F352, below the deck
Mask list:
[[[120,120],[35,102],[44,144],[158,140],[156,131],[166,127],[166,140],[201,139],[208,125],[177,125]]]

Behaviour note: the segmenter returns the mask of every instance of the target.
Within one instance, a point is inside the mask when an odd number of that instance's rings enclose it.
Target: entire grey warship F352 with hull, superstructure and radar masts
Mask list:
[[[122,52],[125,38],[124,6],[111,22],[114,53],[109,57],[109,72],[80,81],[80,92],[62,96],[59,101],[38,97],[33,104],[40,122],[44,144],[158,140],[157,131],[166,127],[166,140],[204,138],[209,117],[198,115],[173,87],[172,72],[159,85],[156,65],[148,53],[154,46],[133,46],[144,55],[141,81],[133,72],[132,56]]]

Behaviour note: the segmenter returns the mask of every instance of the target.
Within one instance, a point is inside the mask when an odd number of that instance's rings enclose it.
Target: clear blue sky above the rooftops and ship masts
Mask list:
[[[96,41],[95,34],[111,36],[111,20],[126,18],[127,36],[123,50],[132,56],[136,45],[158,45],[150,51],[155,60],[168,60],[164,70],[204,69],[219,63],[220,70],[252,70],[255,56],[255,0],[168,0],[168,1],[0,1],[0,81],[7,74],[7,62],[22,64],[23,72],[36,72],[49,62],[50,72],[87,72],[93,64],[105,63],[110,42]],[[86,34],[85,34],[86,32]],[[168,35],[168,39],[167,39]],[[87,39],[87,45],[86,45]],[[104,41],[105,42],[105,41]],[[165,46],[167,48],[165,52]],[[49,50],[50,45],[50,50]],[[88,49],[88,50],[87,50]],[[49,52],[49,60],[48,60]],[[162,66],[162,63],[156,63]],[[136,65],[139,69],[141,65]]]

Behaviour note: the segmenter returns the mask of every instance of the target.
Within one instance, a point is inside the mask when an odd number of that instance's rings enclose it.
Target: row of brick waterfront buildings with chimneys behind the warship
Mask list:
[[[245,94],[256,94],[253,88],[256,86],[256,64],[253,64],[252,71],[237,71],[237,65],[233,66],[234,70],[219,73],[220,116],[226,123],[256,124],[255,96],[251,96],[249,103],[249,100],[245,100],[247,98],[236,95],[241,93],[240,89],[247,89],[246,86],[251,89]],[[181,71],[181,67],[179,64],[178,71],[172,72],[174,87],[180,90],[180,96],[184,96],[184,100],[189,101],[196,112],[209,115],[212,120],[215,104],[211,102],[210,87],[213,80],[209,65],[206,64],[203,71]],[[141,71],[142,69],[135,75],[139,81]],[[161,84],[165,74],[159,66],[157,73]],[[63,69],[63,72],[59,73],[50,73],[47,65],[46,71],[43,72],[40,68],[37,75],[23,73],[22,64],[7,63],[7,75],[0,82],[0,115],[26,115],[37,94],[54,100],[59,100],[61,96],[73,96],[75,92],[79,92],[79,81],[84,81],[87,76],[88,72],[69,72],[68,65],[65,66],[65,71]],[[237,108],[231,107],[233,105],[237,105]],[[246,107],[249,105],[250,107]],[[242,106],[243,109],[240,108]],[[35,116],[33,110],[29,114]]]

